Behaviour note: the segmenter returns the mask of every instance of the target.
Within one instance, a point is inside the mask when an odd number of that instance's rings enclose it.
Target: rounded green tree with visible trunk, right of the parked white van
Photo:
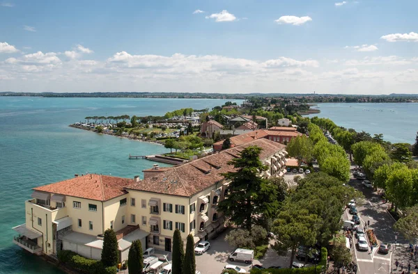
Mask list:
[[[290,268],[296,249],[300,245],[313,245],[316,242],[317,218],[307,209],[300,209],[297,204],[289,203],[286,210],[281,211],[274,221],[273,232],[276,234],[277,241],[273,248],[279,255],[284,255],[287,250],[291,250]]]

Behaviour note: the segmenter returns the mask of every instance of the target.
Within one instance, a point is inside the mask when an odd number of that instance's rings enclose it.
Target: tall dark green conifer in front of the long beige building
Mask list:
[[[260,176],[267,170],[259,159],[260,153],[260,147],[249,146],[240,152],[240,158],[229,161],[236,170],[224,174],[231,180],[231,194],[218,205],[232,223],[247,229],[261,216],[274,216],[279,206],[277,186]]]

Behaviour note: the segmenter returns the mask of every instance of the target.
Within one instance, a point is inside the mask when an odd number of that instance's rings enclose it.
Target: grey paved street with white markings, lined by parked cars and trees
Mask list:
[[[409,261],[409,255],[406,253],[406,245],[408,244],[401,236],[397,236],[398,247],[395,249],[395,236],[393,225],[395,223],[392,216],[387,213],[386,209],[389,204],[385,203],[380,195],[377,192],[373,192],[371,188],[365,188],[361,181],[357,179],[351,179],[350,185],[355,187],[357,190],[364,193],[364,204],[362,206],[357,206],[359,211],[359,217],[361,226],[364,227],[364,224],[367,222],[370,223],[371,229],[374,229],[378,242],[384,242],[391,244],[392,248],[387,255],[378,253],[378,248],[373,248],[372,254],[369,252],[362,252],[355,249],[355,256],[359,265],[359,271],[357,273],[369,274],[385,274],[385,273],[401,273],[401,271],[395,271],[394,261],[398,259],[403,261],[405,266]],[[352,216],[346,210],[345,219],[350,219]],[[355,243],[357,240],[354,239]],[[412,268],[415,267],[414,263]],[[393,267],[392,267],[393,266]],[[398,268],[399,270],[400,268]]]

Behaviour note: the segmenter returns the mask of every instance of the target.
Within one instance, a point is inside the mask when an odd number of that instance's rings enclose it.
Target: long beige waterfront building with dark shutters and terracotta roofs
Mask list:
[[[188,234],[195,242],[210,239],[225,227],[217,211],[229,194],[222,174],[233,171],[228,162],[252,145],[261,147],[261,161],[268,166],[263,177],[286,172],[285,145],[261,138],[181,166],[153,169],[144,180],[75,177],[33,188],[33,199],[26,201],[26,223],[13,228],[20,234],[14,241],[33,253],[72,250],[100,259],[102,234],[112,228],[123,261],[135,239],[141,239],[144,249],[166,252],[171,252],[175,229],[184,240]]]

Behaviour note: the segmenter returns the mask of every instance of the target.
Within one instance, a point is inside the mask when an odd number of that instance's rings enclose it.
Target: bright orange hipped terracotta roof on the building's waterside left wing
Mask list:
[[[38,186],[33,190],[107,201],[127,193],[123,188],[133,182],[133,179],[88,174],[46,186]]]

